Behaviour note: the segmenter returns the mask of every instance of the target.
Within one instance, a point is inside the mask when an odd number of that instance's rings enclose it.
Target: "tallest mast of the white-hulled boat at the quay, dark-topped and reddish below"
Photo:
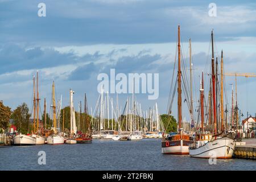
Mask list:
[[[216,93],[215,93],[215,74],[214,74],[214,51],[213,51],[213,30],[212,30],[212,94],[213,94],[213,122],[214,134],[217,134],[216,121]],[[215,137],[216,138],[216,137]]]

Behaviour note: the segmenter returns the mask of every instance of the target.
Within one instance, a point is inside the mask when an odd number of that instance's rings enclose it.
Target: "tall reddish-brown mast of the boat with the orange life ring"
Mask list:
[[[178,101],[177,101],[177,110],[178,110],[178,118],[179,118],[179,129],[181,128],[181,61],[180,61],[180,26],[178,27],[178,55],[179,55],[179,64],[178,64]]]

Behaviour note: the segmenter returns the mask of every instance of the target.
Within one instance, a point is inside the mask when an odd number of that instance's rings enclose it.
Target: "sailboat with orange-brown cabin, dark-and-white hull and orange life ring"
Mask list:
[[[183,129],[181,128],[181,50],[180,50],[180,26],[178,27],[178,72],[177,72],[177,114],[178,114],[178,122],[179,128],[178,133],[174,135],[170,135],[169,137],[162,138],[162,154],[179,154],[179,155],[187,155],[189,154],[188,147],[189,144],[193,141],[188,134],[183,133]],[[170,113],[170,111],[168,112]],[[171,118],[171,116],[170,116]],[[165,131],[164,131],[165,132]],[[163,133],[164,136],[164,133]]]

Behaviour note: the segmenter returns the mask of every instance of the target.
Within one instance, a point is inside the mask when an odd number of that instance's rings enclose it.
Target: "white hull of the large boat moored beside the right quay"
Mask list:
[[[228,137],[212,140],[198,148],[189,148],[189,155],[194,158],[230,159],[233,156],[235,142]]]

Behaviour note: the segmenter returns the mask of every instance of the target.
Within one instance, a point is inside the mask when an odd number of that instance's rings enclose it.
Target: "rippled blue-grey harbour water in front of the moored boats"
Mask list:
[[[161,154],[160,139],[93,140],[91,144],[0,148],[0,170],[256,170],[256,161],[190,158]],[[38,152],[46,152],[46,165]]]

